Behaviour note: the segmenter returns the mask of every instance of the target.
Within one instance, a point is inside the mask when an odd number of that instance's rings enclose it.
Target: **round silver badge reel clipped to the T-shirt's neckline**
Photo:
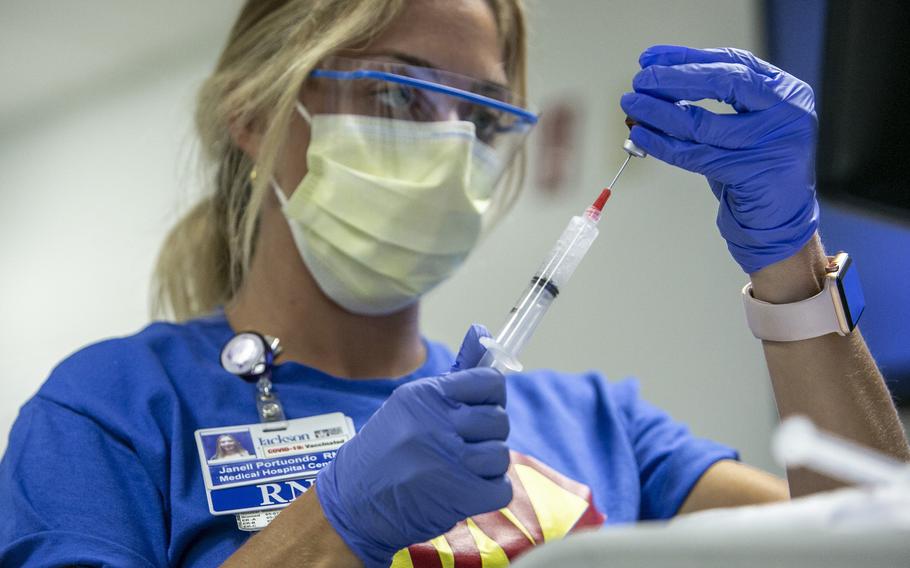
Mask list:
[[[272,385],[272,364],[281,354],[277,337],[244,331],[231,338],[221,350],[221,366],[247,382],[256,382],[256,410],[259,421],[273,424],[266,431],[284,430],[287,418]],[[237,527],[244,531],[262,530],[278,516],[279,511],[237,513]]]

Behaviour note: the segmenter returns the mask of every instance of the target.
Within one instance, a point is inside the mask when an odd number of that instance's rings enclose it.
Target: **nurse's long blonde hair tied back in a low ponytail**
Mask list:
[[[240,289],[300,85],[325,56],[381,33],[405,2],[247,1],[196,102],[196,130],[212,192],[177,222],[162,245],[153,277],[153,313],[188,319],[226,304]],[[486,2],[496,18],[510,87],[524,98],[522,0]],[[231,138],[232,125],[238,124],[262,132],[256,163]],[[519,185],[508,184],[497,210],[508,209]]]

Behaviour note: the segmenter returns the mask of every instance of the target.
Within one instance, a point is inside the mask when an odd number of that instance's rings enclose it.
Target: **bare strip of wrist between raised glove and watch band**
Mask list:
[[[816,233],[796,254],[750,274],[752,296],[772,304],[811,298],[822,291],[827,263]]]

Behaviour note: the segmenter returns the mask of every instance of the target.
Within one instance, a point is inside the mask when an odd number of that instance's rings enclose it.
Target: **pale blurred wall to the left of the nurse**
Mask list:
[[[155,255],[195,191],[196,87],[238,6],[0,6],[0,452],[56,363],[147,322]]]

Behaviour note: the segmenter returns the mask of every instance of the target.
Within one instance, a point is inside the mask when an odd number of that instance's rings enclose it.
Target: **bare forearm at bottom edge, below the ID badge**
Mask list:
[[[231,555],[224,566],[319,568],[363,564],[326,520],[314,486]]]

